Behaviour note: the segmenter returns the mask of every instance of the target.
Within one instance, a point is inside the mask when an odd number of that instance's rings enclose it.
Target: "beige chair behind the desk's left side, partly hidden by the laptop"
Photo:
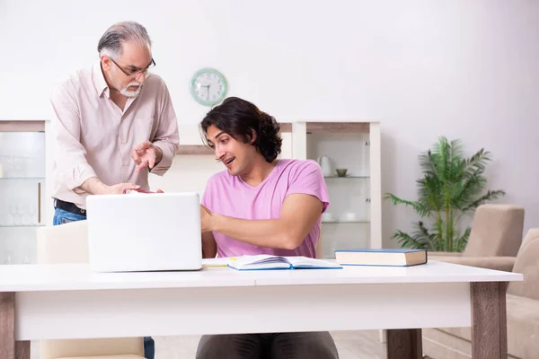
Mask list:
[[[38,263],[86,263],[86,221],[37,230]],[[41,340],[40,359],[144,359],[142,337]]]

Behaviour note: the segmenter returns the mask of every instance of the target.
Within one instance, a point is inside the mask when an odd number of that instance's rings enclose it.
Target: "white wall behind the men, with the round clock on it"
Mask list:
[[[417,155],[437,136],[485,147],[489,188],[539,226],[537,1],[2,0],[0,118],[48,117],[50,84],[97,59],[120,20],[146,25],[181,123],[207,111],[188,83],[214,66],[280,121],[380,120],[384,192],[415,196]],[[383,211],[384,238],[413,218]]]

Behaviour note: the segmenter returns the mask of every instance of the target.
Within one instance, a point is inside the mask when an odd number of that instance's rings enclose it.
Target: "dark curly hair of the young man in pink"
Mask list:
[[[277,121],[249,101],[229,97],[208,112],[199,125],[202,140],[208,146],[208,127],[212,125],[244,144],[251,143],[253,133],[256,134],[252,145],[267,162],[273,162],[281,152],[282,139]]]

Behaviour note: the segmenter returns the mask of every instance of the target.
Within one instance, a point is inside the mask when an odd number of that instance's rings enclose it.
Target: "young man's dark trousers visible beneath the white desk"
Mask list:
[[[203,336],[197,359],[337,359],[328,332]]]

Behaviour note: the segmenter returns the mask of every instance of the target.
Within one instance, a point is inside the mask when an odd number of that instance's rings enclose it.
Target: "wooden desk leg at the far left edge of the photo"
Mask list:
[[[15,357],[15,293],[0,293],[0,358]]]

